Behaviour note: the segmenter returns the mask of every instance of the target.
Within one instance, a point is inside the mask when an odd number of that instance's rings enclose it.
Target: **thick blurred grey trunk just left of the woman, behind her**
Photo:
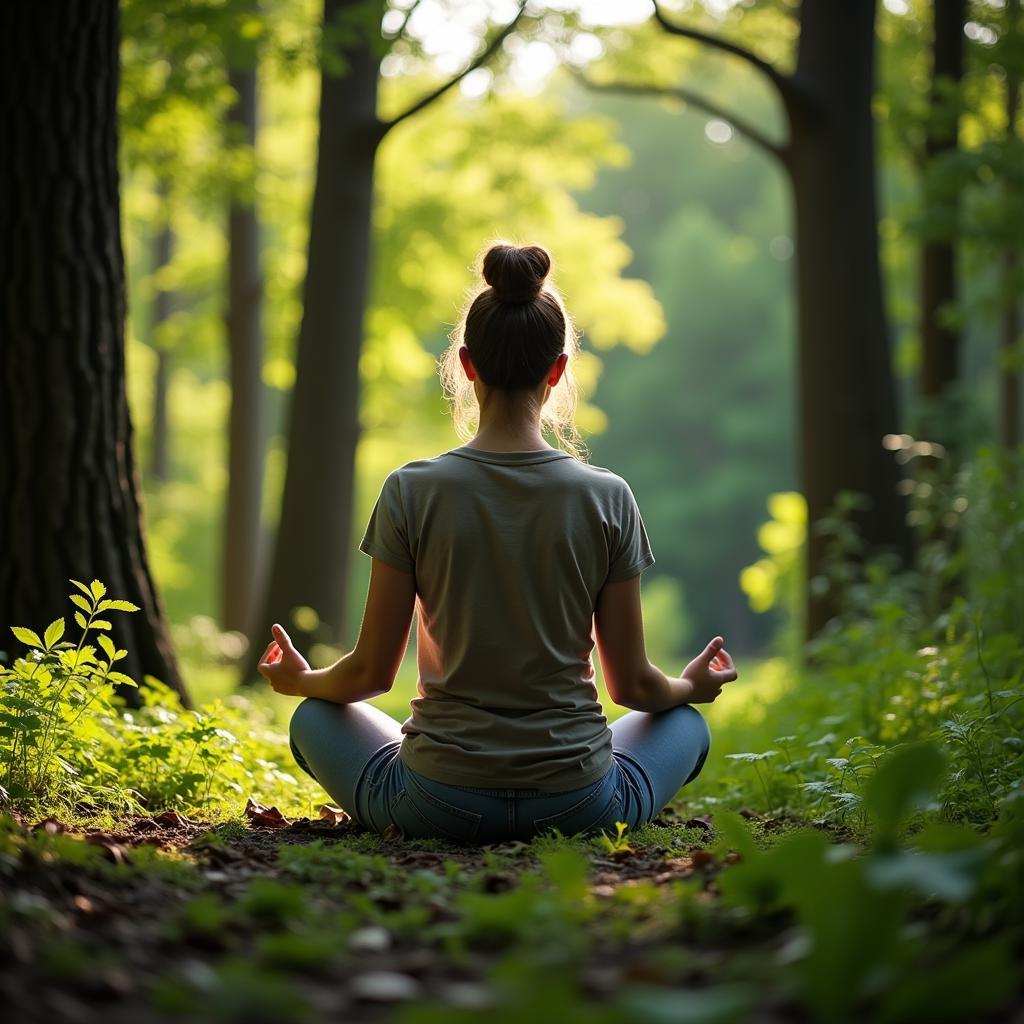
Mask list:
[[[365,0],[326,0],[325,25],[365,7]],[[269,640],[273,622],[291,628],[302,644],[344,640],[359,434],[358,364],[370,276],[374,159],[381,126],[378,47],[364,34],[346,46],[343,57],[341,74],[335,70],[336,61],[328,61],[322,76],[319,153],[288,469],[266,600],[250,637],[247,677],[253,675],[255,656]],[[312,608],[319,627],[310,630],[304,622],[295,622],[292,612],[297,607]]]

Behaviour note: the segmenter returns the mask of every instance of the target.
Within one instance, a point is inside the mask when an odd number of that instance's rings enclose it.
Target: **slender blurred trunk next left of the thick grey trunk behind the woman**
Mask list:
[[[256,69],[232,70],[238,103],[228,115],[234,141],[256,145]],[[221,566],[221,622],[244,632],[255,614],[262,575],[260,508],[263,496],[263,273],[260,225],[252,191],[232,198],[227,215],[227,350],[231,384],[228,419],[227,504]]]

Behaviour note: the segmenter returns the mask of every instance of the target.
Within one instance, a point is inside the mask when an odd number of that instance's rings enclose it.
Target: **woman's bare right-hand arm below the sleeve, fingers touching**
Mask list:
[[[605,584],[594,609],[597,649],[608,696],[624,708],[658,712],[681,703],[710,703],[736,678],[732,658],[715,637],[683,670],[667,676],[647,658],[640,577]]]

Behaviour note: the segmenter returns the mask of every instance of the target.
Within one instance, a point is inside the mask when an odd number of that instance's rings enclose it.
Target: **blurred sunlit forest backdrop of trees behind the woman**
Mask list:
[[[820,518],[867,480],[895,512],[866,540],[904,555],[906,522],[955,530],[914,500],[1020,429],[1019,5],[856,7],[125,0],[127,383],[190,669],[244,662],[274,618],[321,662],[353,641],[381,480],[460,443],[435,359],[495,238],[554,254],[580,424],[643,511],[667,668],[716,632],[741,655],[801,633],[800,492]],[[815,151],[837,33],[869,103]],[[844,139],[867,184],[795,203]]]

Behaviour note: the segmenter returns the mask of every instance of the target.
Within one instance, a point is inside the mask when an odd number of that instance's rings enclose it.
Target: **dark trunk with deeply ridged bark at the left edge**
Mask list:
[[[125,395],[119,35],[116,0],[0,12],[0,624],[45,625],[96,577],[142,609],[116,616],[124,671],[183,695]]]

